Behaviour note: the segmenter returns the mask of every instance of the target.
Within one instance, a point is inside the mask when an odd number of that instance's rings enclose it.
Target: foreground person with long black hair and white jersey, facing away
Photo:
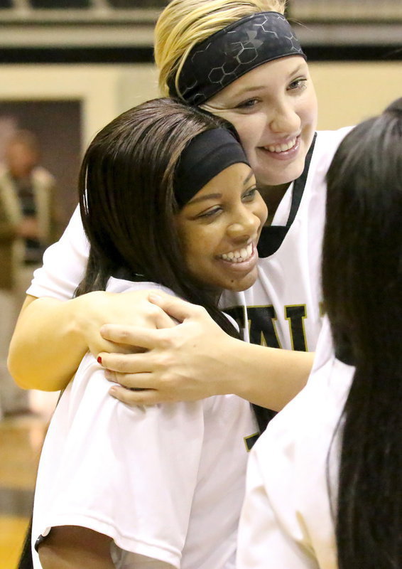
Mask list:
[[[329,324],[251,452],[238,569],[402,567],[402,98],[347,135],[327,182]]]

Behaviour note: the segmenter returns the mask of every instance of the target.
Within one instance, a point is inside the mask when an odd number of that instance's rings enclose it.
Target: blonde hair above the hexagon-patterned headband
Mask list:
[[[178,78],[188,54],[201,41],[245,16],[275,11],[284,14],[286,0],[173,0],[155,27],[155,62],[161,95],[169,95],[168,80]]]

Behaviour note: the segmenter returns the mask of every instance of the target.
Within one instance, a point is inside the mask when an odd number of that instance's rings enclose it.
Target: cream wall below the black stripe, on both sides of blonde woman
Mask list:
[[[310,63],[319,128],[355,124],[402,97],[402,63]],[[2,65],[0,99],[80,99],[82,147],[113,117],[158,96],[156,70],[138,65]],[[55,125],[57,129],[57,125]]]

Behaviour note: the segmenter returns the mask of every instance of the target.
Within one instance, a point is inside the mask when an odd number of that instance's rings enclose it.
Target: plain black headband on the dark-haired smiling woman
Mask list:
[[[174,192],[183,208],[214,176],[232,164],[248,164],[234,135],[216,128],[197,134],[183,150],[175,172]]]

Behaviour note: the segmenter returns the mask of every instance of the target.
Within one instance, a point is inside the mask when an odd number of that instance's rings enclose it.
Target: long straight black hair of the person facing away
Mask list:
[[[342,413],[339,569],[402,567],[402,98],[359,124],[327,174],[322,287],[354,363]]]

